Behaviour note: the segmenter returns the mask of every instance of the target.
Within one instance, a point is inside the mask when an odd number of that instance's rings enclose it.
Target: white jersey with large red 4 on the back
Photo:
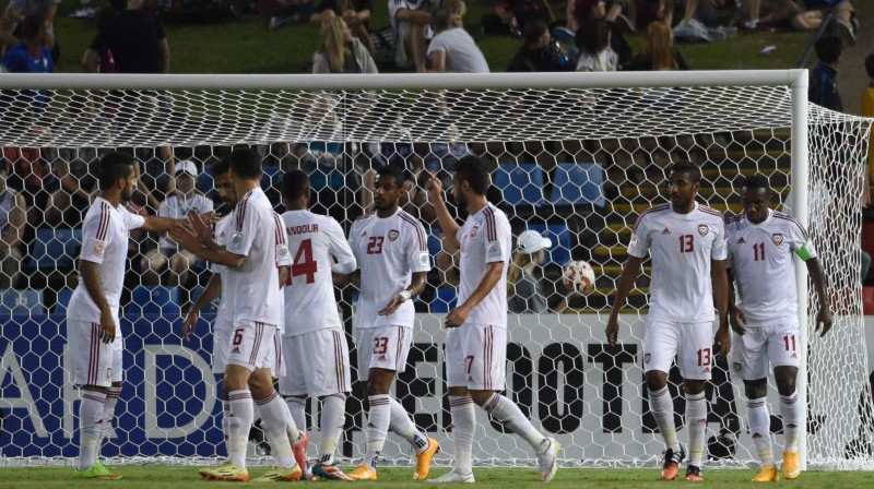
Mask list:
[[[288,211],[282,220],[294,258],[285,287],[285,335],[341,330],[331,257],[338,263],[355,261],[343,228],[332,217],[309,211]]]

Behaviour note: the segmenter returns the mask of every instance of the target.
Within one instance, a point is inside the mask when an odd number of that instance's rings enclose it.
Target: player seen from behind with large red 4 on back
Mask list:
[[[312,475],[352,480],[334,466],[345,424],[346,394],[352,386],[346,334],[336,310],[331,273],[350,274],[357,265],[340,224],[307,210],[312,196],[307,174],[286,174],[282,192],[287,208],[282,215],[283,232],[287,234],[294,260],[285,287],[282,349],[286,370],[280,393],[299,427],[306,426],[307,397],[321,399],[319,463],[312,467]]]

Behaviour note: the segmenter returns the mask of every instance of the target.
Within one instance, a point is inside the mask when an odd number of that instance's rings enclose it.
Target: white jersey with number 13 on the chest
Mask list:
[[[640,215],[628,243],[628,254],[652,255],[649,318],[654,321],[699,323],[712,321],[713,288],[710,261],[725,260],[722,215],[695,204],[688,214],[671,204],[657,205]]]

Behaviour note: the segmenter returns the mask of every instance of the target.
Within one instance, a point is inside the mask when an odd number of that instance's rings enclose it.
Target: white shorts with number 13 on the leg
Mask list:
[[[713,361],[713,322],[674,323],[647,320],[643,372],[671,371],[676,358],[683,379],[710,380]]]

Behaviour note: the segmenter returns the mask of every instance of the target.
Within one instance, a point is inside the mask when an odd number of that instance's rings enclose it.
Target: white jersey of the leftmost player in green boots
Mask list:
[[[97,198],[91,204],[82,224],[82,251],[79,258],[99,264],[101,285],[113,314],[118,318],[121,288],[125,285],[125,267],[128,262],[128,239],[131,229],[143,226],[145,218],[133,214],[123,205],[113,207],[108,201]],[[79,286],[73,290],[67,318],[98,322],[101,310],[85,289],[79,276]]]

